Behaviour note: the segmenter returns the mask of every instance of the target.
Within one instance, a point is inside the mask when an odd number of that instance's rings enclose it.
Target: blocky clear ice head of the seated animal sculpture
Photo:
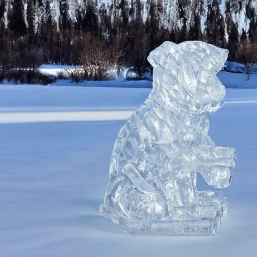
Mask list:
[[[225,87],[216,74],[227,56],[228,50],[201,41],[164,42],[148,57],[154,67],[151,97],[193,113],[218,110]]]

